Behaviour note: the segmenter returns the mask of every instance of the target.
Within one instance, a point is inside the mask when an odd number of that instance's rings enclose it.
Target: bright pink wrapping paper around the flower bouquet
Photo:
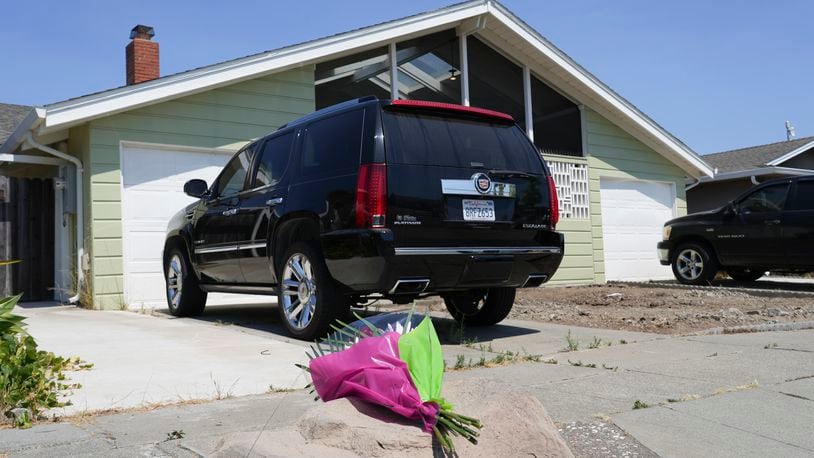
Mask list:
[[[407,364],[399,359],[399,334],[367,337],[347,350],[314,358],[309,365],[314,388],[323,401],[355,397],[384,406],[432,432],[438,405],[421,402]]]

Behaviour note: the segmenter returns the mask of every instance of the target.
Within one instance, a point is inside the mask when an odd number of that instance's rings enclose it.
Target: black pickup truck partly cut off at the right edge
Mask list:
[[[659,260],[684,284],[719,270],[754,281],[767,270],[814,271],[814,176],[767,181],[718,210],[668,221]]]

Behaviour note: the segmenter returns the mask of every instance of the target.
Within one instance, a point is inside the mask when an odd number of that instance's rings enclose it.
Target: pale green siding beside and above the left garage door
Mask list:
[[[86,218],[92,306],[121,308],[123,299],[120,143],[135,141],[236,148],[314,111],[313,67],[213,89],[90,122],[76,130],[85,151]],[[71,140],[74,141],[74,130]]]

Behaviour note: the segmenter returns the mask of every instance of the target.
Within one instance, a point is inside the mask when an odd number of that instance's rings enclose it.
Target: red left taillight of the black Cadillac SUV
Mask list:
[[[387,167],[362,164],[356,181],[356,227],[384,227],[387,215]]]

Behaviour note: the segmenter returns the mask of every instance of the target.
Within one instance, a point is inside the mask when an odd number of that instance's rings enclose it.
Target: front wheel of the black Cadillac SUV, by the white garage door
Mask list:
[[[197,316],[206,307],[206,292],[190,267],[186,253],[173,248],[164,266],[167,286],[167,307],[174,316]]]

